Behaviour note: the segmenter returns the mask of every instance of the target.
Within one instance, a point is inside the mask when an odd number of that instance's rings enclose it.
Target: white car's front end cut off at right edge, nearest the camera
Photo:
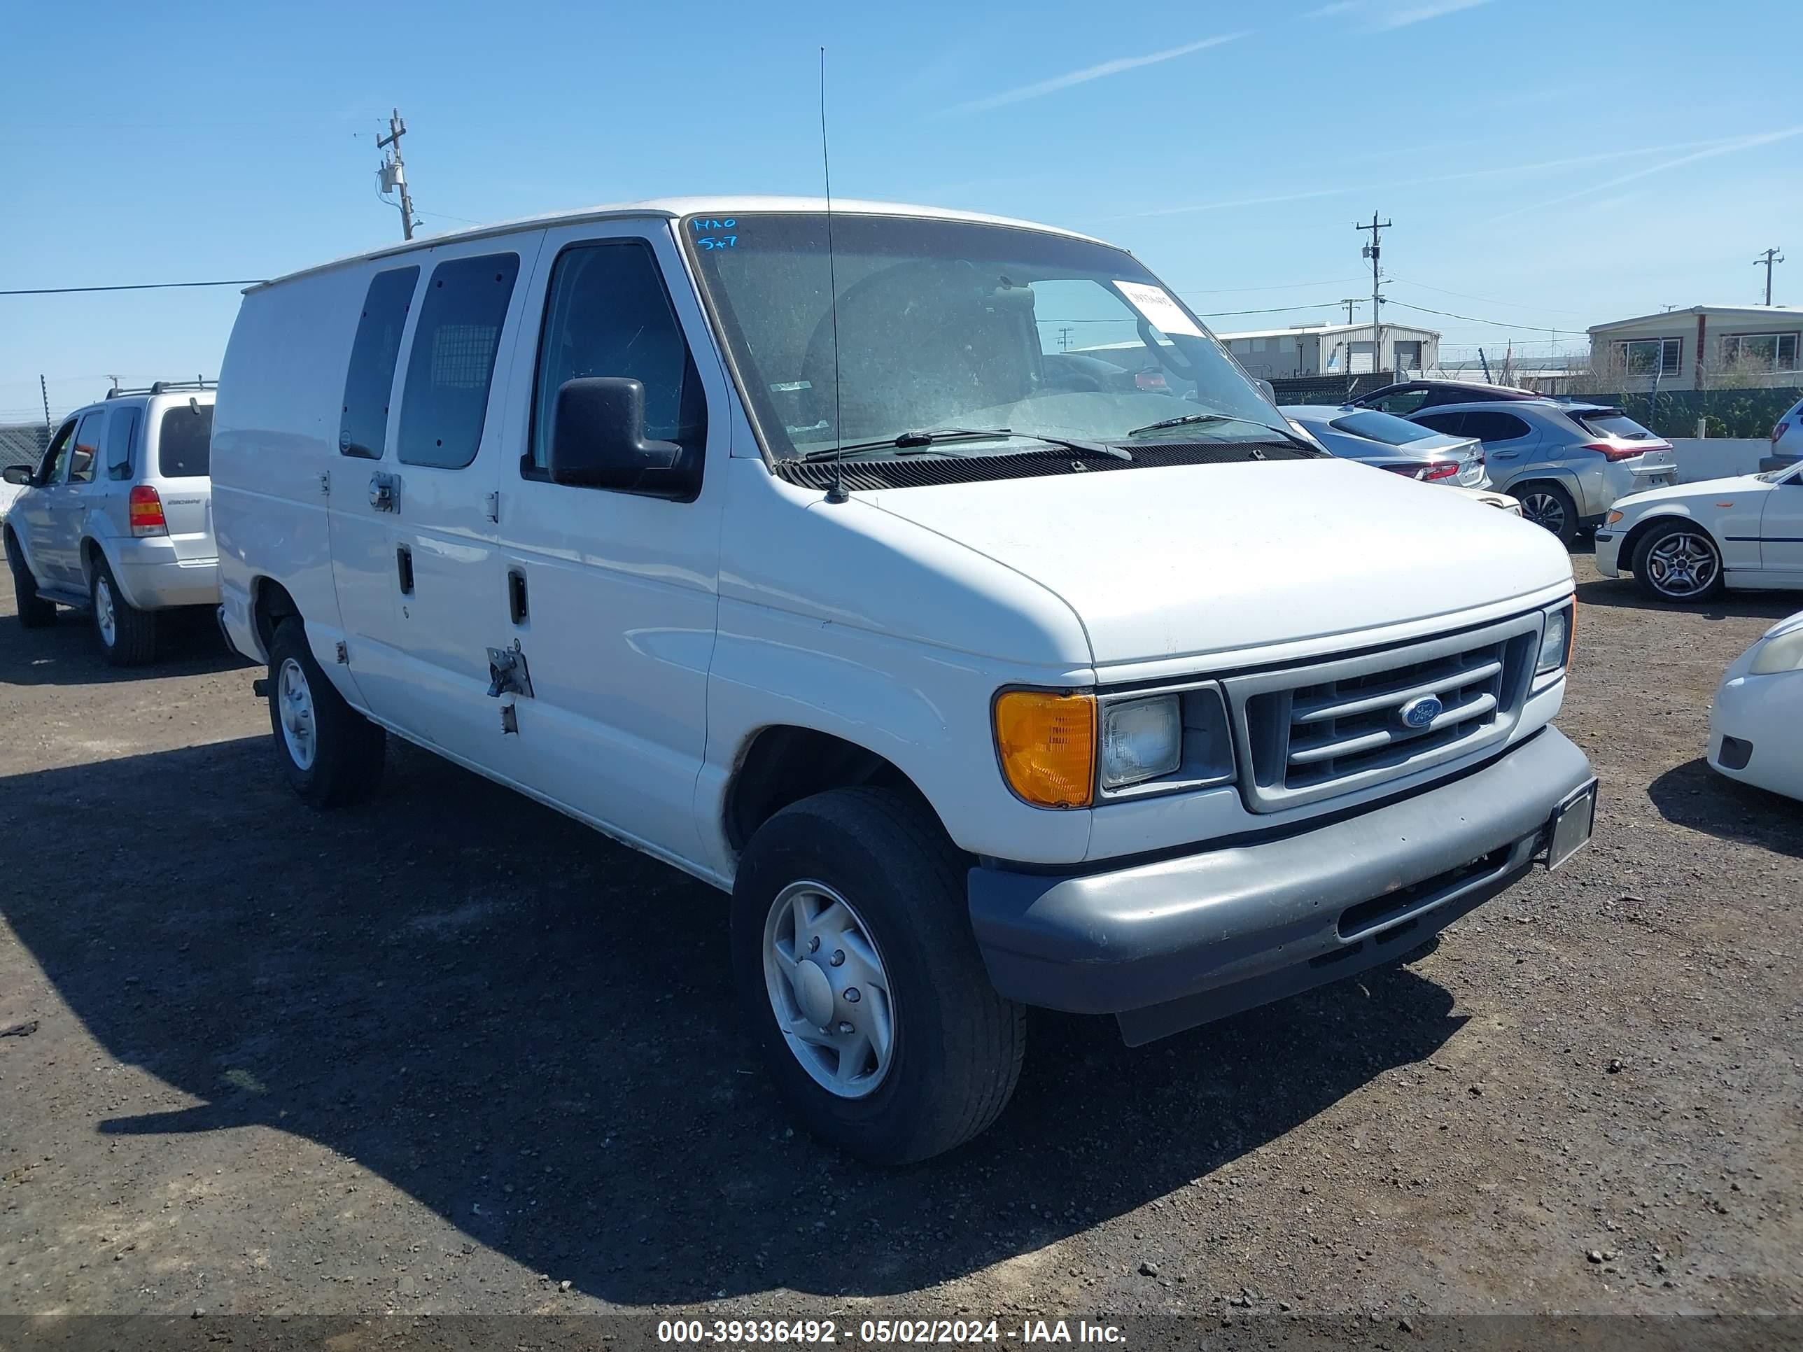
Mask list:
[[[1803,611],[1742,653],[1709,703],[1709,764],[1803,799]]]

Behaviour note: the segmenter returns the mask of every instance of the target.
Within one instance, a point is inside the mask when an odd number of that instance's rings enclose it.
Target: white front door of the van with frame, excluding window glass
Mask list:
[[[593,242],[644,242],[664,272],[707,398],[707,463],[692,503],[577,489],[521,470],[539,317],[557,256]],[[719,588],[732,398],[700,305],[662,220],[552,231],[539,252],[514,353],[501,469],[505,566],[525,577],[528,615],[503,620],[532,671],[516,703],[508,770],[586,820],[685,860],[705,860],[694,784],[707,748],[707,671]],[[597,371],[600,375],[600,371]],[[710,860],[709,860],[710,863]]]

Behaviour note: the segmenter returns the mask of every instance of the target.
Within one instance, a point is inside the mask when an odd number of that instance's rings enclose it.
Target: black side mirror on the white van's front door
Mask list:
[[[552,411],[552,483],[685,498],[676,442],[645,440],[645,388],[618,375],[564,380]]]

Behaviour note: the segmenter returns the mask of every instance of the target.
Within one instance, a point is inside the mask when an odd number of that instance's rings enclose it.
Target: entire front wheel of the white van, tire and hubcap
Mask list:
[[[1013,1094],[1026,1015],[990,984],[965,872],[923,804],[869,788],[784,808],[739,863],[732,964],[764,1062],[860,1159],[938,1156]]]

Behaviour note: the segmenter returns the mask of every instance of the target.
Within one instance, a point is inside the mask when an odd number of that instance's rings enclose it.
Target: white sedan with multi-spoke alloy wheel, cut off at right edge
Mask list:
[[[1655,600],[1722,588],[1803,591],[1803,461],[1623,498],[1596,532],[1596,570]]]

